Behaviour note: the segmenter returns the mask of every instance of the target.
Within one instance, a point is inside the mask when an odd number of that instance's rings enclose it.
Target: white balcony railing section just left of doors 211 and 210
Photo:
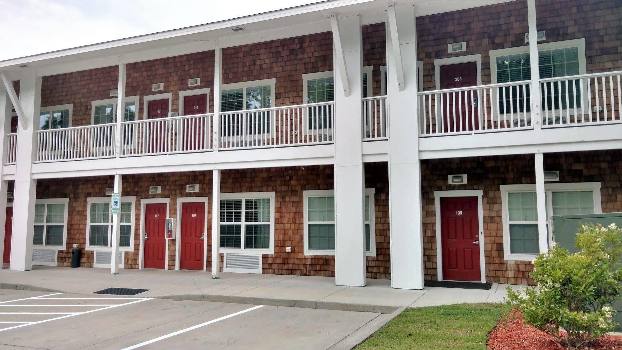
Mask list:
[[[101,124],[39,130],[37,162],[108,158],[114,156],[116,125]]]

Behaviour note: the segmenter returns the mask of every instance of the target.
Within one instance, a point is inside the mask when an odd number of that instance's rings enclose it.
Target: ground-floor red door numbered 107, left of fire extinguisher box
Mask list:
[[[166,204],[154,203],[145,206],[144,268],[164,268],[166,239],[164,236]]]

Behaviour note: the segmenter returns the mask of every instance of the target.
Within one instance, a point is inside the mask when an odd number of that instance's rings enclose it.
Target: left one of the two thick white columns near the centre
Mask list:
[[[337,16],[337,14],[335,14]],[[366,285],[362,140],[363,57],[359,16],[332,18],[335,51],[335,282]],[[337,30],[336,30],[337,29]],[[338,40],[337,36],[340,36]],[[335,60],[338,60],[335,54]],[[345,70],[344,70],[345,69]],[[349,86],[345,86],[344,82]]]

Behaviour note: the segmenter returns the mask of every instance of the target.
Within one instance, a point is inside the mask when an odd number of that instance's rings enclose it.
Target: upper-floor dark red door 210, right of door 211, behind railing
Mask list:
[[[183,97],[183,114],[198,115],[207,113],[207,94]],[[181,144],[185,151],[203,149],[205,146],[205,125],[201,120],[185,121]]]

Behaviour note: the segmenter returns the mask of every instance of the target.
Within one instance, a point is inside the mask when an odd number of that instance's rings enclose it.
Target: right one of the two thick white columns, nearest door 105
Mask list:
[[[392,6],[392,4],[388,4]],[[390,9],[389,9],[390,11]],[[424,286],[421,225],[421,170],[419,164],[419,116],[417,111],[417,42],[415,9],[395,9],[396,23],[387,31],[389,101],[389,217],[391,228],[391,286],[422,289]],[[388,17],[389,22],[391,16]],[[391,28],[397,28],[391,31]],[[394,38],[393,35],[397,35]],[[397,39],[397,40],[395,40]],[[400,50],[392,46],[399,42]],[[397,65],[401,52],[404,88]]]

